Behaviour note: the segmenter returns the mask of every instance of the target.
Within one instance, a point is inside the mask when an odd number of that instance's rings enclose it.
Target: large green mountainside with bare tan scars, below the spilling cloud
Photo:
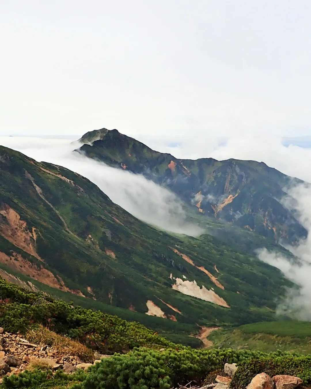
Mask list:
[[[90,303],[199,325],[269,321],[291,286],[245,252],[158,231],[77,173],[5,147],[1,266]]]

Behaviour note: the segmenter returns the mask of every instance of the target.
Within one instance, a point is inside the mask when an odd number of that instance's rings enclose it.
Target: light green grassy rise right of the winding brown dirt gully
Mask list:
[[[220,329],[208,339],[214,347],[258,350],[276,350],[311,354],[311,323],[300,321],[258,322],[234,330]]]

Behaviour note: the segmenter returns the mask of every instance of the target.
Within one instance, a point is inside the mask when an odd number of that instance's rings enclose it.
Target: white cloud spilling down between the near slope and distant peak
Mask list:
[[[64,139],[0,137],[0,144],[36,159],[77,172],[94,182],[110,199],[133,216],[162,230],[198,236],[204,230],[186,221],[182,201],[168,189],[72,151],[77,142]]]

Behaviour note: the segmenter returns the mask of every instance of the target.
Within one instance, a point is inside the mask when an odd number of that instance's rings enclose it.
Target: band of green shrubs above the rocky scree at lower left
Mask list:
[[[127,352],[139,346],[175,347],[174,343],[137,322],[73,307],[64,301],[28,292],[1,278],[0,296],[0,326],[9,332],[26,334],[42,324],[105,354]]]

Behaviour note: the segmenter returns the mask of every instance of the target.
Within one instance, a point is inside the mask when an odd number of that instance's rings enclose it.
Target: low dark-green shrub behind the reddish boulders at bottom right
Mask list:
[[[232,389],[245,388],[259,373],[274,375],[294,375],[306,384],[311,383],[311,355],[297,356],[285,354],[276,357],[252,358],[239,364],[231,383]]]

